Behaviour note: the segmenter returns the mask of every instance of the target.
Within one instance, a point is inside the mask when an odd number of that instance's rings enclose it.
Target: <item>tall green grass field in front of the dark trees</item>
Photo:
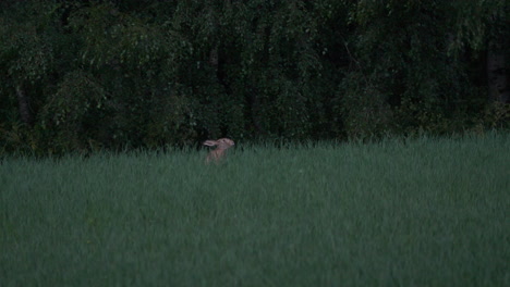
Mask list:
[[[510,286],[510,135],[3,159],[0,285]]]

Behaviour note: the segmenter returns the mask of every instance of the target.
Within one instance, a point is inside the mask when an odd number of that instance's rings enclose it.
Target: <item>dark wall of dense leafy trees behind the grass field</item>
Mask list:
[[[0,154],[509,128],[507,0],[0,1]]]

